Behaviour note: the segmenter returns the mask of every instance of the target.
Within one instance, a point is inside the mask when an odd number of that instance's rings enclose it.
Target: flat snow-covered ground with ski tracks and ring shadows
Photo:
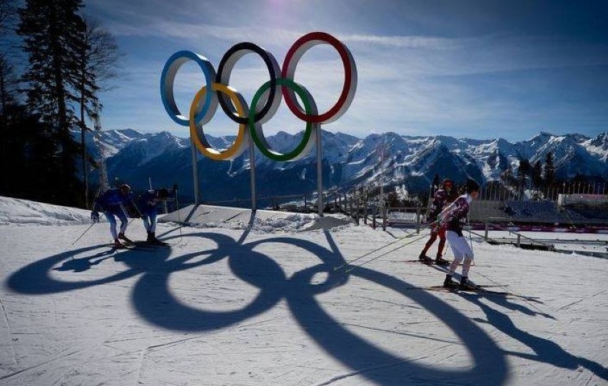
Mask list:
[[[0,385],[608,384],[605,259],[474,241],[512,295],[446,293],[407,230],[87,227],[0,225]]]

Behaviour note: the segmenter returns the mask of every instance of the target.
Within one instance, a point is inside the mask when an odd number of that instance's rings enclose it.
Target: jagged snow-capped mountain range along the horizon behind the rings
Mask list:
[[[302,132],[278,132],[268,142],[279,151],[290,150]],[[227,147],[233,137],[208,137],[213,146]],[[136,187],[146,187],[148,177],[155,186],[180,184],[192,192],[190,141],[170,132],[142,133],[136,130],[108,130],[101,135],[108,174]],[[88,149],[95,153],[92,137]],[[256,154],[258,196],[300,194],[315,191],[316,153],[295,162],[273,162]],[[377,182],[380,171],[387,184],[405,184],[410,189],[428,187],[435,174],[463,181],[480,182],[500,178],[507,169],[517,169],[520,160],[544,162],[554,154],[558,177],[576,174],[608,176],[608,132],[596,137],[579,134],[552,135],[541,132],[530,140],[509,142],[457,139],[446,136],[405,136],[395,132],[368,135],[363,139],[342,132],[323,131],[323,179],[327,187]],[[218,201],[249,196],[249,156],[213,162],[200,156],[198,169],[203,199]],[[93,178],[94,175],[93,175]],[[280,182],[280,183],[277,183]],[[209,188],[213,187],[213,188]]]

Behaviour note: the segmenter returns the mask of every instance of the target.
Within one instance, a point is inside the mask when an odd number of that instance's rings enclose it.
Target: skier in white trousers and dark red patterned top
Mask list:
[[[452,246],[452,252],[454,253],[454,260],[450,264],[450,269],[443,282],[444,287],[454,287],[457,285],[455,281],[452,281],[452,276],[463,259],[465,262],[462,264],[460,288],[466,289],[469,285],[467,276],[473,261],[473,251],[467,243],[467,239],[462,236],[462,226],[467,220],[471,201],[479,196],[479,192],[480,185],[474,180],[469,179],[466,184],[466,193],[458,197],[455,202],[452,202],[440,214],[440,224],[447,227],[447,241],[450,241],[450,246]]]

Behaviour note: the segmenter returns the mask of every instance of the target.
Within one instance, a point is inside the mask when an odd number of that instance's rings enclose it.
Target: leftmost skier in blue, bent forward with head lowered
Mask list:
[[[133,204],[133,194],[131,193],[131,187],[127,184],[121,184],[117,189],[108,189],[101,196],[95,199],[93,203],[93,212],[91,212],[91,219],[93,221],[99,221],[99,211],[103,212],[110,223],[110,233],[114,239],[114,247],[121,248],[122,244],[119,239],[126,242],[131,242],[125,236],[126,227],[128,225],[127,214],[124,208],[126,204]],[[118,234],[116,233],[116,218],[121,220],[121,228]]]

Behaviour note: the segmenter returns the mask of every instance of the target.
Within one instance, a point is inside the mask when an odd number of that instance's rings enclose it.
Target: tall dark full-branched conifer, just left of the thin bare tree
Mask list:
[[[19,9],[17,33],[24,37],[29,68],[27,100],[31,111],[51,127],[51,136],[61,160],[57,188],[64,203],[74,204],[79,184],[76,177],[78,144],[70,134],[76,125],[73,103],[78,102],[78,52],[84,23],[77,12],[81,0],[26,0]]]

